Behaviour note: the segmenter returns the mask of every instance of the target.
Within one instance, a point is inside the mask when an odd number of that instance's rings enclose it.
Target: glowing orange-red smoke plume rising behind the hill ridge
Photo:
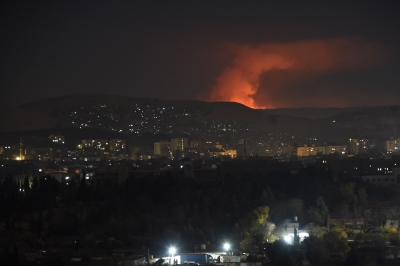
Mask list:
[[[233,62],[217,78],[208,100],[238,102],[251,108],[275,108],[277,106],[271,101],[266,105],[254,98],[259,92],[262,74],[273,70],[289,72],[289,76],[297,73],[291,76],[291,82],[294,82],[300,80],[302,74],[318,76],[333,71],[357,70],[382,62],[384,50],[378,43],[350,39],[231,44],[227,51]],[[265,89],[264,93],[268,95],[268,88]]]

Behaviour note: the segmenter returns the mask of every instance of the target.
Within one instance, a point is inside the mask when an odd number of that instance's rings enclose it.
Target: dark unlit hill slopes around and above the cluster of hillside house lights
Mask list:
[[[73,108],[91,108],[104,105],[121,107],[125,113],[132,112],[136,104],[142,106],[176,108],[188,112],[173,122],[177,131],[185,132],[193,125],[204,123],[231,123],[241,127],[249,125],[261,132],[281,132],[312,136],[339,141],[350,136],[387,139],[399,135],[400,105],[354,108],[298,108],[298,109],[251,109],[233,102],[203,102],[195,100],[161,100],[157,98],[134,98],[105,94],[75,94],[44,99],[2,109],[1,130],[29,130],[49,127],[73,127],[67,123],[62,112]],[[68,110],[69,110],[68,109]],[[7,115],[7,114],[13,115]]]

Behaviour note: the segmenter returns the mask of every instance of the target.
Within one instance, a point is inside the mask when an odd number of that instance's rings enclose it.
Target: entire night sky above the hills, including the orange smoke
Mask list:
[[[0,103],[99,92],[271,108],[400,104],[398,2],[8,1]]]

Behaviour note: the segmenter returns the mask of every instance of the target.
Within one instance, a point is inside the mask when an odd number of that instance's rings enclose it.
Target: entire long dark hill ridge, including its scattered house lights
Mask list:
[[[76,94],[3,107],[0,130],[99,128],[193,138],[262,139],[266,134],[343,141],[399,134],[400,106],[260,110],[232,102]]]

